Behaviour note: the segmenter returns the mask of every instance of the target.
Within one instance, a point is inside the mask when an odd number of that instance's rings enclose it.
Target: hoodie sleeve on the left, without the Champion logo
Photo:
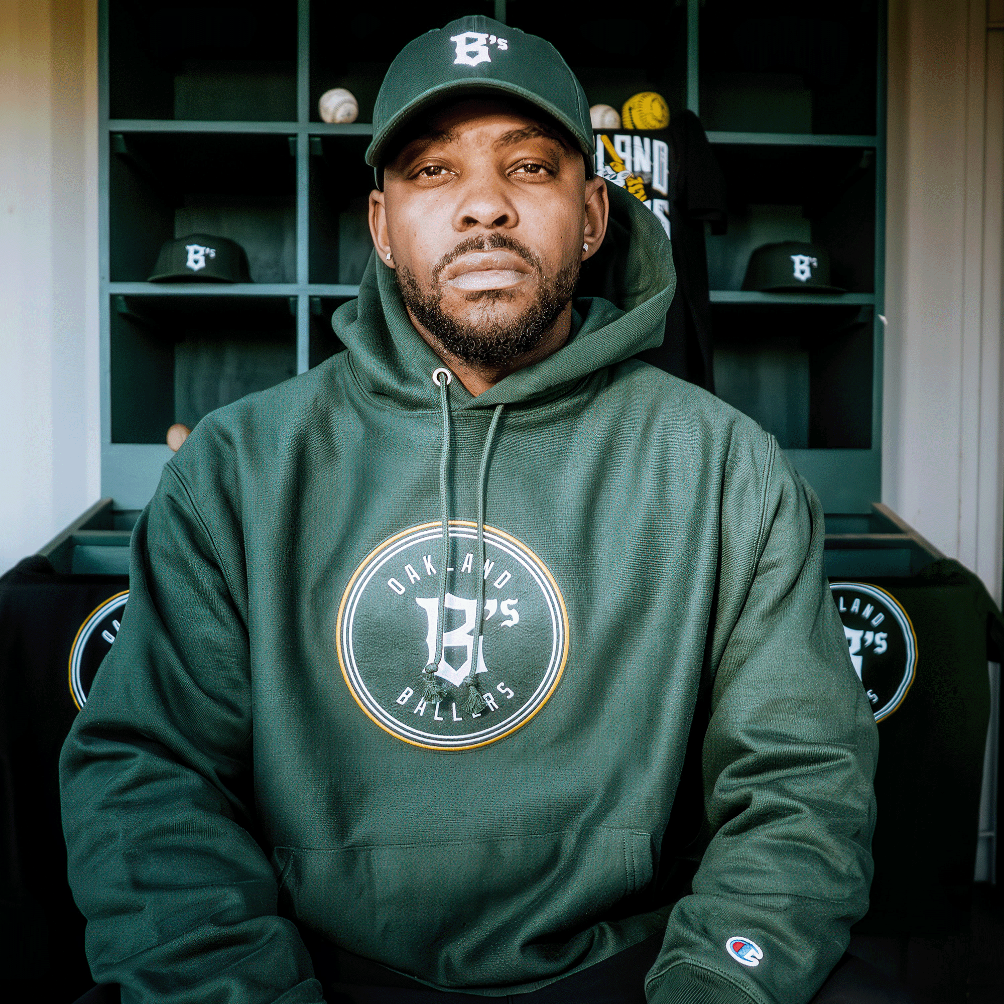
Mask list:
[[[322,999],[253,835],[246,597],[224,572],[241,555],[226,557],[169,464],[134,532],[121,628],[63,747],[87,959],[123,1001]]]

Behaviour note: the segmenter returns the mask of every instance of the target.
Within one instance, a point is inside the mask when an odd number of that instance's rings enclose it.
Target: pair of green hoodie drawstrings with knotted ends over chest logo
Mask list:
[[[438,704],[446,697],[443,684],[436,676],[443,659],[443,635],[446,620],[446,586],[447,566],[450,563],[450,508],[447,488],[447,475],[450,464],[450,398],[447,387],[453,380],[453,373],[445,366],[434,370],[433,383],[440,390],[440,408],[443,413],[443,450],[440,453],[440,522],[443,527],[443,551],[440,561],[440,591],[437,606],[436,626],[436,658],[422,671],[425,685],[424,700],[430,704]],[[488,475],[488,458],[491,454],[492,441],[502,418],[503,405],[496,405],[492,421],[485,437],[485,445],[481,451],[481,465],[478,469],[478,598],[474,618],[474,645],[471,651],[471,669],[461,681],[458,690],[467,691],[462,707],[468,714],[477,715],[485,709],[485,700],[481,696],[476,683],[478,667],[481,663],[481,629],[485,612],[485,487]]]

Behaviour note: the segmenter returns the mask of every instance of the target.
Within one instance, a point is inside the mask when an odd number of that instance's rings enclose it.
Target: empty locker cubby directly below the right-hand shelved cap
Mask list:
[[[717,304],[714,315],[720,398],[782,449],[870,449],[871,307]]]

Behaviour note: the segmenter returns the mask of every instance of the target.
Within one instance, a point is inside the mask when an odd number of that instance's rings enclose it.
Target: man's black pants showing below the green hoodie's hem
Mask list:
[[[604,962],[528,994],[446,994],[355,956],[311,946],[327,1004],[646,1004],[645,977],[662,938],[650,938]],[[117,986],[94,987],[76,1004],[118,1004]],[[811,1004],[915,1004],[873,966],[845,955]]]

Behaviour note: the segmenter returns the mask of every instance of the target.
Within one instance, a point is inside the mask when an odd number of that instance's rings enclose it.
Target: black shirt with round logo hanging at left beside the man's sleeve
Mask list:
[[[92,986],[66,882],[59,751],[126,605],[126,575],[69,575],[39,555],[0,577],[0,973]]]

